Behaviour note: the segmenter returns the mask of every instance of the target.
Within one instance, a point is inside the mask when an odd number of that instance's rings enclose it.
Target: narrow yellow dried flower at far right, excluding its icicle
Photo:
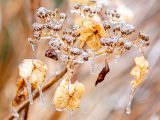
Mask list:
[[[145,75],[148,73],[148,61],[144,56],[135,58],[136,66],[131,70],[131,75],[136,79],[131,81],[132,88],[135,89],[138,87],[144,80]]]

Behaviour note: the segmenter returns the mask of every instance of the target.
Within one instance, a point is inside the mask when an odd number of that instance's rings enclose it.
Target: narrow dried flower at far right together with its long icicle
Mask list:
[[[148,61],[144,58],[144,56],[136,57],[135,58],[136,66],[131,70],[131,75],[135,77],[135,80],[131,81],[131,92],[129,95],[126,113],[131,113],[131,104],[137,88],[142,84],[146,74],[148,73]]]

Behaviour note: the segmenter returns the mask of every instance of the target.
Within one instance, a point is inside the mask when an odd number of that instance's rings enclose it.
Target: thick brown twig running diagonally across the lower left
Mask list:
[[[53,76],[46,85],[44,85],[44,87],[42,88],[42,91],[46,91],[47,89],[49,89],[54,83],[56,83],[59,79],[61,79],[65,73],[67,72],[67,69],[65,68],[63,71],[61,71],[59,74],[57,74],[56,76]],[[36,99],[37,97],[39,97],[39,91],[35,90],[33,92],[33,99]],[[25,100],[24,102],[22,102],[19,106],[17,106],[17,112],[21,112],[24,108],[26,108],[26,106],[29,105],[29,100]],[[5,120],[12,120],[14,118],[14,116],[10,113],[7,115],[7,117],[5,118]]]

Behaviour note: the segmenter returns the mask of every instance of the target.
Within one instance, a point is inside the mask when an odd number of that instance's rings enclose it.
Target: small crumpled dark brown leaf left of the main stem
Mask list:
[[[58,60],[58,55],[57,55],[57,53],[55,52],[54,49],[48,49],[48,50],[46,50],[45,56],[49,57],[51,59],[54,59],[54,60]]]

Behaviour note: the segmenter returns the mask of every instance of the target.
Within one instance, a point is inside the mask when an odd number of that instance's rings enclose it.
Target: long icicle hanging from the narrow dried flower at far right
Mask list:
[[[128,103],[127,103],[127,107],[126,107],[126,114],[130,114],[131,113],[131,104],[132,104],[132,100],[135,94],[135,90],[132,89],[131,93],[129,95],[129,99],[128,99]]]

